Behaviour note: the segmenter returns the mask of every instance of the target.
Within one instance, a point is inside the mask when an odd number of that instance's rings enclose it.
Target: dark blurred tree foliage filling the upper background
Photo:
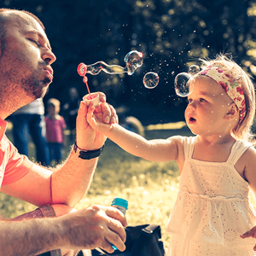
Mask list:
[[[87,93],[77,73],[80,62],[125,67],[132,49],[142,51],[143,67],[127,74],[88,74],[91,91],[102,90],[115,107],[126,104],[141,119],[182,119],[184,99],[173,89],[177,73],[200,58],[230,53],[256,74],[256,3],[253,0],[5,0],[2,7],[26,9],[44,22],[57,56],[55,79],[46,98],[67,100],[67,90]],[[143,75],[159,73],[154,90]],[[175,109],[176,111],[172,111]]]

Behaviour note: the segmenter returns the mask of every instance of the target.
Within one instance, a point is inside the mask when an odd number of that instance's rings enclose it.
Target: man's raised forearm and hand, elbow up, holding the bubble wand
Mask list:
[[[102,104],[96,109],[96,115],[106,123],[117,120],[114,109],[106,103],[105,96],[101,94]],[[80,102],[77,118],[77,145],[84,150],[96,150],[102,148],[106,138],[102,133],[95,131],[87,122],[87,105]],[[79,150],[78,150],[79,151]],[[73,207],[85,195],[90,187],[98,158],[83,160],[79,158],[79,152],[71,151],[66,163],[51,178],[51,193],[53,203],[64,203]]]

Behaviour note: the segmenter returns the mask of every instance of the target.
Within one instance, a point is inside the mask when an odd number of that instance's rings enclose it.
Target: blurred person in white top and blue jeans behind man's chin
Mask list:
[[[36,148],[36,160],[49,166],[49,149],[45,140],[44,102],[39,98],[12,114],[15,147],[20,154],[29,156],[29,137]]]

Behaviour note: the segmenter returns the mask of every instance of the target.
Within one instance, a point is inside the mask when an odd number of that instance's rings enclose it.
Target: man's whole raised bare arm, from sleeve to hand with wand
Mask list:
[[[115,111],[101,94],[102,104],[97,108],[97,115],[106,123],[117,120]],[[101,148],[106,140],[102,133],[94,131],[86,120],[87,106],[80,103],[77,118],[77,145],[84,150]],[[36,206],[47,204],[66,204],[73,207],[85,195],[96,168],[98,158],[83,160],[79,152],[71,150],[66,162],[53,171],[43,167],[32,167],[31,172],[15,183],[3,185],[3,193],[12,195]]]

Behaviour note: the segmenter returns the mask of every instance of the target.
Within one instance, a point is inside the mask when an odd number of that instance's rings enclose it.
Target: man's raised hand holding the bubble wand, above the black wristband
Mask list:
[[[98,94],[101,104],[95,109],[96,117],[102,119],[105,124],[118,122],[114,108],[106,103],[106,96],[102,92],[98,92]],[[107,137],[90,127],[86,119],[87,112],[88,106],[86,103],[83,101],[80,102],[77,117],[77,144],[79,148],[95,150],[102,147]]]

